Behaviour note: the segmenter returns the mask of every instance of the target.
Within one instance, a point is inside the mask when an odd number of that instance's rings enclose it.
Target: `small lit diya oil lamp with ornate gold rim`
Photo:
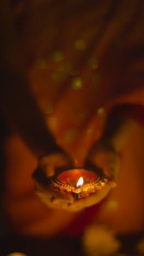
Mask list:
[[[73,195],[74,199],[89,196],[105,187],[108,179],[101,171],[85,168],[71,168],[49,178],[51,189]]]

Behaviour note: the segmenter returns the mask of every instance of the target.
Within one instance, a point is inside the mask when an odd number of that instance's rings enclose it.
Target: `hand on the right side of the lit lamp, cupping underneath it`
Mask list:
[[[104,188],[95,191],[88,197],[75,200],[74,203],[69,206],[69,210],[79,211],[85,207],[95,205],[103,200],[112,188],[117,187],[116,181],[119,170],[119,156],[110,142],[98,141],[93,145],[85,161],[85,168],[88,167],[102,170],[108,178],[108,182]]]

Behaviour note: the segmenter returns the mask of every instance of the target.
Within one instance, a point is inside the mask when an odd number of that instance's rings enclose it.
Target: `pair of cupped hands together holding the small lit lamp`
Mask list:
[[[74,199],[73,195],[67,195],[51,188],[49,178],[55,175],[55,170],[57,168],[65,170],[72,166],[70,156],[63,151],[47,154],[39,159],[39,167],[33,174],[35,193],[47,206],[80,211],[103,200],[109,191],[117,186],[119,157],[110,143],[96,142],[89,150],[85,161],[85,168],[98,168],[108,178],[105,187],[82,199]]]

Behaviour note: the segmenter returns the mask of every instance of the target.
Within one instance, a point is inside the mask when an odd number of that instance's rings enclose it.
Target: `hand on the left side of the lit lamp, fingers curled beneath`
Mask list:
[[[35,193],[47,206],[53,208],[67,208],[73,203],[73,196],[60,193],[49,186],[49,178],[55,174],[58,168],[70,168],[73,163],[70,156],[63,150],[41,156],[39,166],[33,173],[35,181]]]

